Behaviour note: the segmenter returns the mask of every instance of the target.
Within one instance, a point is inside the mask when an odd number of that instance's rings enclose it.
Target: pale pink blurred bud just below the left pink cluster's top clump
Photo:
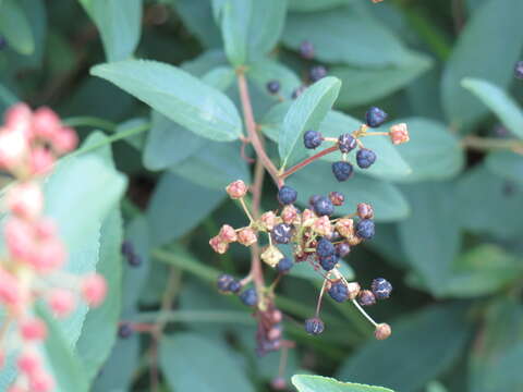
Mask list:
[[[44,209],[44,193],[35,182],[22,183],[9,189],[7,204],[15,215],[33,219]]]

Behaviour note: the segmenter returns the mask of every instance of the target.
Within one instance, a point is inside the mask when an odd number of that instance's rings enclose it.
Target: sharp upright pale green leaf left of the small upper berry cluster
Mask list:
[[[283,120],[279,135],[281,167],[289,163],[294,150],[305,150],[300,142],[307,130],[316,130],[338,98],[341,82],[327,76],[308,87],[294,100]]]

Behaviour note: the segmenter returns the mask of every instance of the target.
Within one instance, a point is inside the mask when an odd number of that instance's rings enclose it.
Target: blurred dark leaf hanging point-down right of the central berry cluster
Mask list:
[[[403,186],[412,213],[399,223],[403,250],[411,267],[434,294],[441,294],[461,246],[451,183]]]

